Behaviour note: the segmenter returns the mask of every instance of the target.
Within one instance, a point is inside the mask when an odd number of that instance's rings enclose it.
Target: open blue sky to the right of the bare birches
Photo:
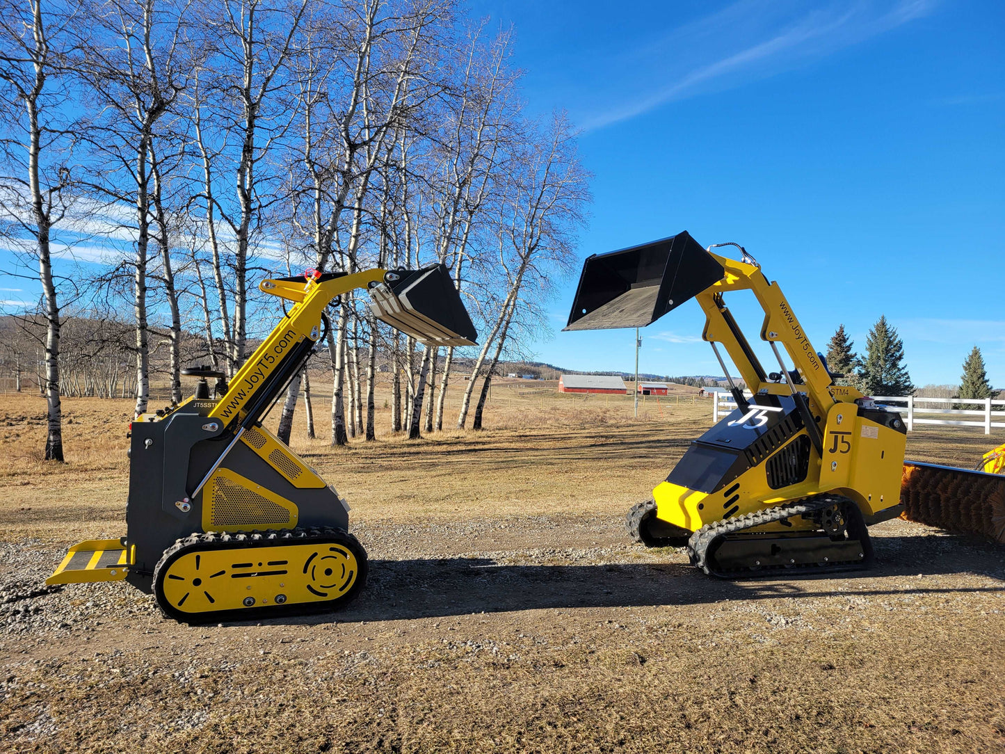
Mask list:
[[[472,9],[515,24],[532,109],[584,129],[595,203],[581,256],[680,230],[737,241],[818,349],[841,323],[864,349],[885,315],[916,384],[957,382],[978,345],[1005,387],[1005,3]],[[539,358],[633,369],[633,331],[559,332],[574,290],[554,302]],[[728,303],[756,337],[750,302]],[[691,302],[650,325],[640,368],[720,373],[702,322]]]

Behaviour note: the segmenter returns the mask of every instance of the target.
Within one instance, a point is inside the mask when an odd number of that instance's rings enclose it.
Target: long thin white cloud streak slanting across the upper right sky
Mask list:
[[[774,75],[925,16],[937,2],[840,0],[811,3],[807,10],[805,2],[741,0],[627,56],[621,61],[626,86],[618,92],[620,102],[580,120],[584,130],[595,130],[707,88]],[[739,49],[708,59],[710,50],[731,44]],[[661,59],[668,53],[671,58]],[[699,64],[680,67],[681,60],[702,57]],[[627,84],[638,80],[643,85],[648,80],[647,92],[631,91]]]

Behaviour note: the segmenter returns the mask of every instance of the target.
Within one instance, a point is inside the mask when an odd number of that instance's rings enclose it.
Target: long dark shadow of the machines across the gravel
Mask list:
[[[338,613],[277,618],[276,623],[325,623],[332,620],[397,620],[449,617],[479,612],[693,605],[720,600],[777,597],[827,597],[853,593],[931,594],[1005,592],[1001,549],[962,537],[877,537],[876,564],[861,571],[800,577],[782,571],[764,579],[722,581],[689,565],[509,565],[487,558],[373,560],[367,588]],[[930,586],[919,575],[976,573],[997,583],[989,586]],[[869,580],[853,592],[835,581]]]

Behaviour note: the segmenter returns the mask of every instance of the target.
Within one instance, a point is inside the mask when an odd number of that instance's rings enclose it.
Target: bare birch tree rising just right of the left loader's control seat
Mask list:
[[[295,114],[289,60],[307,6],[308,0],[214,0],[198,9],[203,59],[188,102],[199,154],[196,199],[205,207],[230,374],[247,348],[249,260],[264,240],[262,216],[281,184],[273,169],[281,160],[271,158]],[[221,188],[227,174],[234,176],[232,195]]]

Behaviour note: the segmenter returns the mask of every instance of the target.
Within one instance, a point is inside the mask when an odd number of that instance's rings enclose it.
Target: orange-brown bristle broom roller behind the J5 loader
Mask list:
[[[903,518],[1005,544],[1005,477],[904,463]]]

